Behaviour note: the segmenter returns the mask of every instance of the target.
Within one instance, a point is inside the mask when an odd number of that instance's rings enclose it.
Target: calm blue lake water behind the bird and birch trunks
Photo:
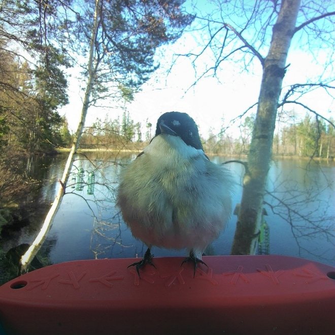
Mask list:
[[[43,170],[45,186],[39,202],[50,204],[59,187],[58,178],[66,160],[66,154],[40,158],[33,165]],[[122,164],[136,157],[129,154],[118,157],[107,153],[79,155],[73,172],[84,170],[83,180],[94,172],[94,193],[87,194],[88,186],[76,190],[76,180],[70,178],[66,194],[54,219],[40,255],[51,263],[92,258],[142,257],[146,246],[135,240],[114,208],[114,188],[117,173]],[[231,157],[213,156],[221,163]],[[243,159],[243,158],[242,158]],[[233,207],[240,203],[242,194],[243,165],[233,162],[226,165],[235,177],[236,188]],[[334,162],[318,162],[306,159],[276,159],[269,173],[264,208],[264,220],[269,226],[270,239],[267,252],[304,257],[335,265],[335,210],[334,210]],[[71,185],[72,184],[72,185]],[[31,243],[38,233],[46,206],[41,206],[36,221],[25,227],[13,243]],[[219,239],[207,249],[208,255],[229,255],[235,233],[237,217],[233,215]],[[14,241],[14,242],[13,242]],[[155,256],[184,256],[185,250],[153,248]]]

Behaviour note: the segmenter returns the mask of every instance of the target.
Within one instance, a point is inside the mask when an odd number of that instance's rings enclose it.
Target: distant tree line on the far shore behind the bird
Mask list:
[[[285,123],[277,122],[278,131],[273,142],[273,154],[282,156],[318,157],[332,159],[335,152],[335,132],[323,120],[306,115],[296,120],[294,112],[287,113],[290,118]],[[241,120],[238,135],[229,135],[222,124],[221,131],[210,130],[202,138],[207,153],[223,155],[247,155],[250,147],[254,116]],[[122,118],[100,120],[86,127],[81,139],[82,149],[141,150],[154,136],[149,120],[142,125],[123,112]],[[201,130],[201,125],[200,125]]]

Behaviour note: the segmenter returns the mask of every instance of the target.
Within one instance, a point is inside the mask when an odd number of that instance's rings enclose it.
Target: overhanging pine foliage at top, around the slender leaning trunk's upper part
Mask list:
[[[84,56],[83,68],[89,54],[92,18],[98,6],[94,100],[107,96],[132,99],[132,94],[159,66],[154,60],[156,49],[176,41],[192,22],[191,15],[182,13],[184,1],[74,1],[65,22],[70,40],[64,41],[63,46]],[[83,74],[88,77],[90,71],[86,69]]]

